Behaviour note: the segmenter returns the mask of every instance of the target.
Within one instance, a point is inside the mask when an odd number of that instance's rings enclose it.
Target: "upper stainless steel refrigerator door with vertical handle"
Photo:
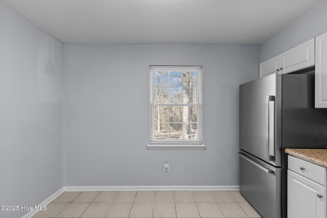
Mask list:
[[[275,139],[278,80],[272,74],[240,85],[240,149],[275,166],[281,166]]]

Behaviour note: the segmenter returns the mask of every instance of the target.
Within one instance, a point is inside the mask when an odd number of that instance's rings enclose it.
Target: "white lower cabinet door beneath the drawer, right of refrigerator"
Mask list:
[[[287,217],[326,218],[326,187],[288,169]]]

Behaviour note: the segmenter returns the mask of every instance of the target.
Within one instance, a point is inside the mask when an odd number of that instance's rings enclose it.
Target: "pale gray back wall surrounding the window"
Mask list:
[[[239,85],[258,78],[259,49],[64,44],[64,184],[238,185]],[[147,150],[149,65],[203,66],[206,150]]]

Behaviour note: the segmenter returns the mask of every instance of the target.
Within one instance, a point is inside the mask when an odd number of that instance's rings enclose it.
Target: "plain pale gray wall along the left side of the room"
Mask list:
[[[62,43],[0,3],[0,205],[38,205],[63,187]],[[0,210],[0,217],[27,211]]]

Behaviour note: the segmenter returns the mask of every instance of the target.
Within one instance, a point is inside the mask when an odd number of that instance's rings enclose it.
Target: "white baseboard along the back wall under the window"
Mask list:
[[[239,191],[239,185],[64,186],[64,191]]]

